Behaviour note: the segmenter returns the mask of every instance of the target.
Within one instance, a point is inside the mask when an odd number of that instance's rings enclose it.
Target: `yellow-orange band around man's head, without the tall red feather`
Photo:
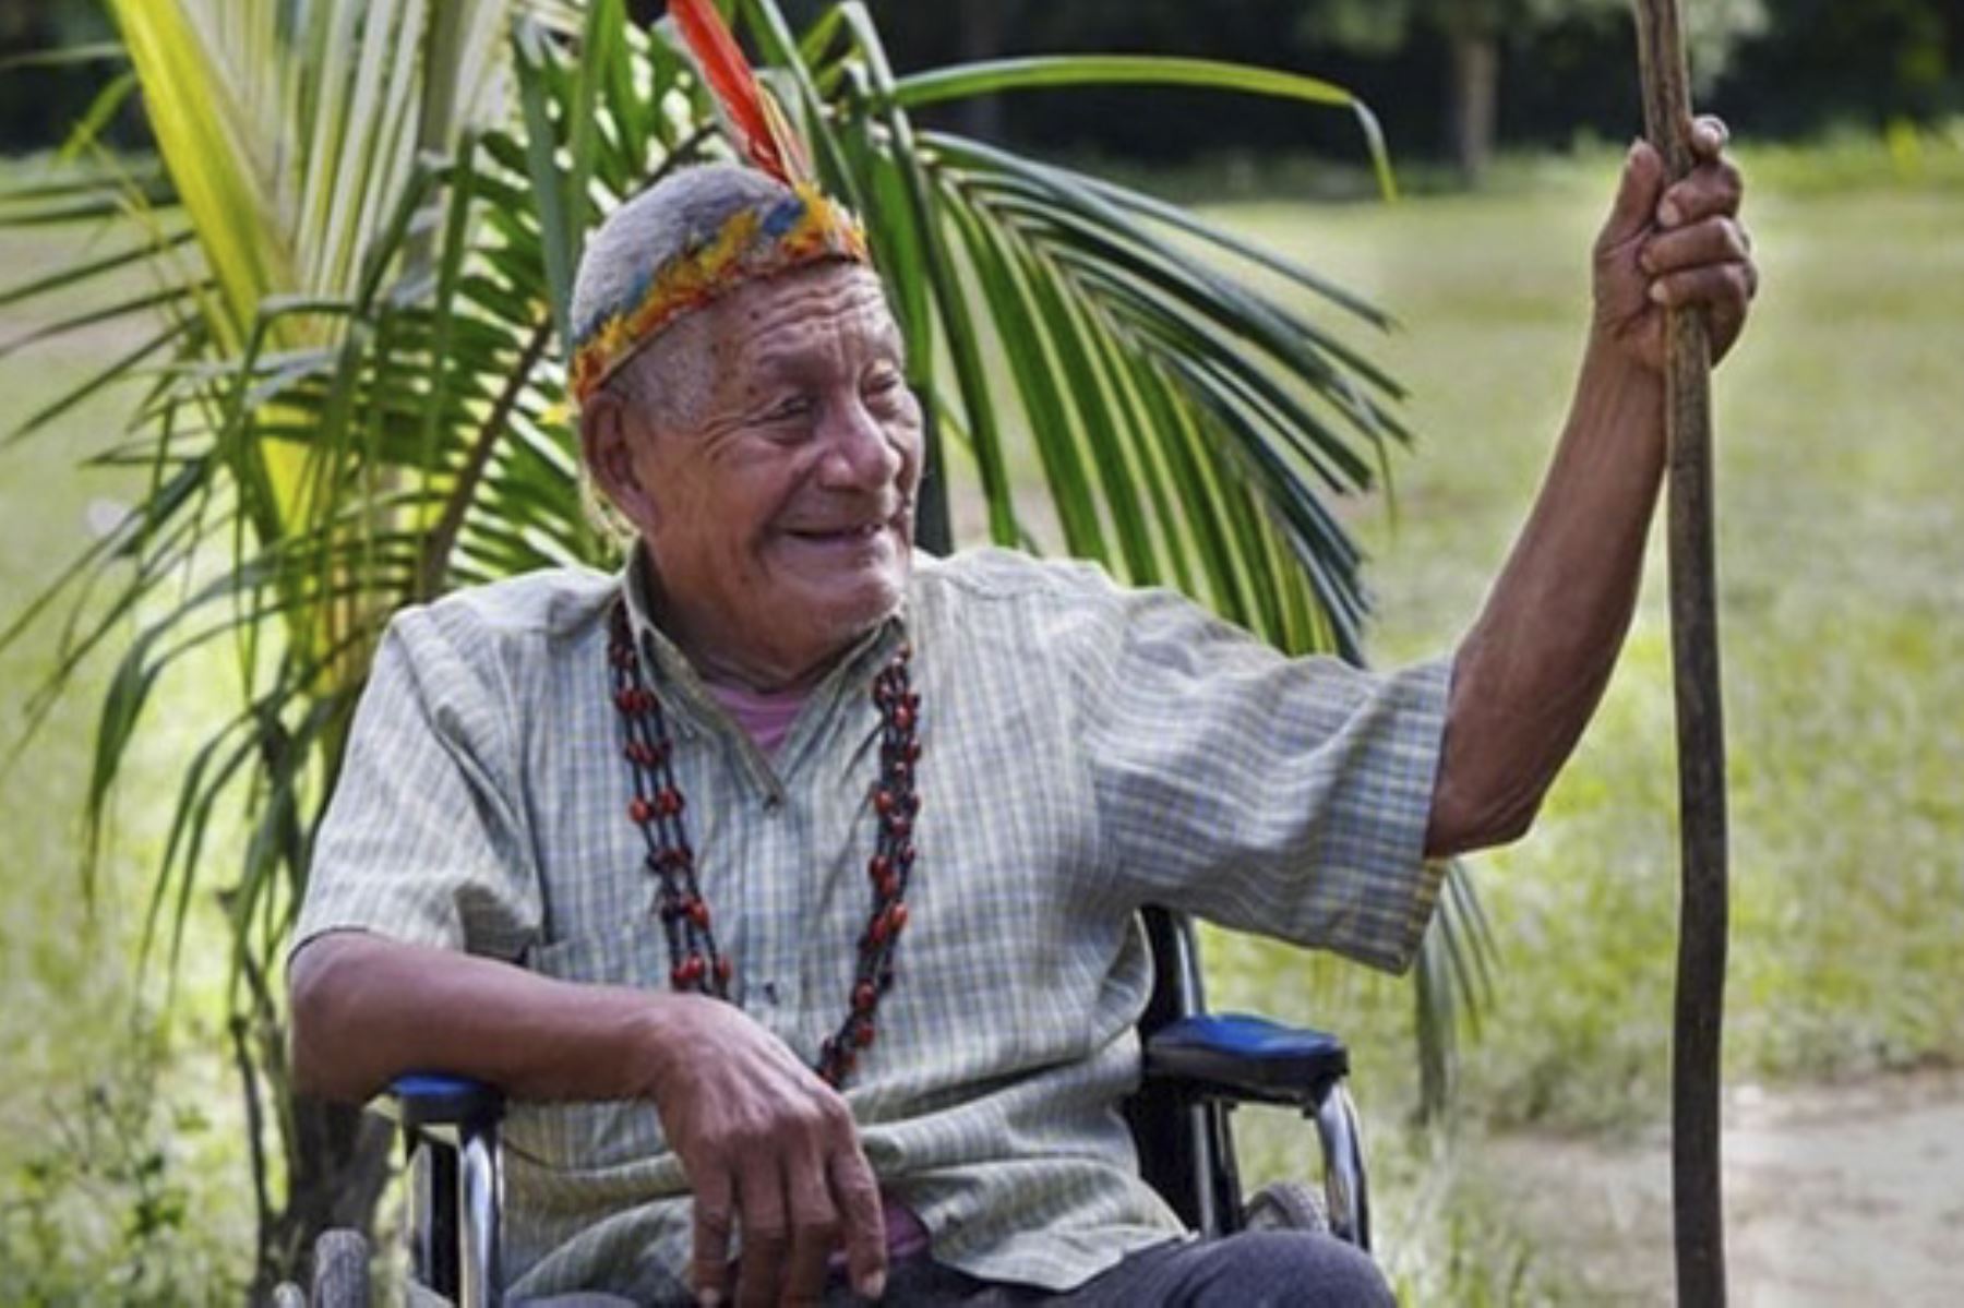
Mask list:
[[[780,200],[736,210],[713,238],[650,269],[621,304],[575,328],[573,401],[583,405],[676,318],[744,283],[827,259],[866,263],[866,232],[817,187],[805,183]]]

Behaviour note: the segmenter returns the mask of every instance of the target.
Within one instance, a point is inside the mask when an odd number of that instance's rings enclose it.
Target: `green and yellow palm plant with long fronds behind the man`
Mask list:
[[[269,984],[367,654],[403,603],[615,562],[583,503],[558,357],[581,234],[721,143],[689,65],[623,0],[110,8],[161,167],[96,153],[0,196],[0,222],[102,216],[128,234],[0,304],[141,269],[141,295],[37,336],[110,316],[155,330],[6,440],[130,381],[128,428],[98,460],[149,469],[149,491],[0,642],[71,609],[53,693],[136,625],[102,703],[94,827],[159,678],[232,650],[242,697],[187,762],[145,949],[175,960],[222,866],[208,837],[238,805],[246,839],[224,850],[236,878],[218,894],[269,1275],[320,1226],[359,1224],[385,1172],[357,1116],[289,1094]],[[1290,652],[1359,658],[1359,554],[1326,497],[1369,491],[1408,438],[1398,389],[1220,265],[1281,277],[1337,318],[1385,318],[1186,210],[911,114],[1033,86],[1212,86],[1355,112],[1383,169],[1363,106],[1184,59],[896,75],[856,0],[803,31],[774,0],[742,18],[827,185],[868,222],[929,414],[925,544],[953,544],[951,503],[980,505],[1004,544],[1033,546],[1047,515],[1068,552],[1121,579],[1176,585]],[[1418,968],[1428,1088],[1481,956],[1455,876]]]

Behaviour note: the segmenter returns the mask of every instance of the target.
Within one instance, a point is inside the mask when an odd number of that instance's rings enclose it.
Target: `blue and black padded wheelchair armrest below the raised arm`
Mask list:
[[[1249,1013],[1194,1013],[1145,1041],[1147,1082],[1190,1094],[1314,1108],[1347,1074],[1336,1035]]]

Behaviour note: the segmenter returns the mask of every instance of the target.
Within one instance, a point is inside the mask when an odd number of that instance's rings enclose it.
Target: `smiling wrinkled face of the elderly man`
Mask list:
[[[695,403],[627,414],[650,507],[630,517],[683,646],[711,674],[790,681],[900,603],[921,410],[864,267],[752,283],[701,318],[674,342],[707,350]]]

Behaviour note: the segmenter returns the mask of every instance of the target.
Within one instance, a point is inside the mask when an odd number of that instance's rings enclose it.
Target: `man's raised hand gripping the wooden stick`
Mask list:
[[[1664,371],[1664,310],[1711,310],[1713,361],[1724,357],[1760,289],[1752,238],[1738,220],[1744,192],[1724,157],[1717,118],[1691,126],[1697,167],[1665,187],[1664,159],[1648,141],[1630,147],[1609,222],[1595,245],[1595,332],[1652,371]]]

